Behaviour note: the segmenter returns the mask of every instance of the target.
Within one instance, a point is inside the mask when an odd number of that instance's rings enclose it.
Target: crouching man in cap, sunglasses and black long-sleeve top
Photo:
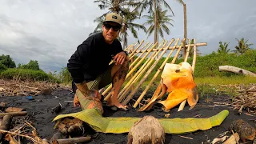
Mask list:
[[[101,94],[98,90],[112,82],[108,106],[127,110],[127,106],[118,102],[118,93],[129,69],[128,55],[122,50],[121,43],[117,39],[121,27],[120,15],[107,14],[102,25],[102,33],[87,38],[69,59],[67,68],[73,78],[74,86],[78,89],[74,100],[78,97],[80,103],[84,99],[100,102]],[[109,65],[111,60],[115,62]]]

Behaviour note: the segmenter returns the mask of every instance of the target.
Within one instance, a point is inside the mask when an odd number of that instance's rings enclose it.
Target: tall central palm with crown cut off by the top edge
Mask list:
[[[144,10],[146,10],[148,7],[150,7],[148,13],[152,15],[154,15],[154,43],[158,42],[158,14],[157,14],[157,9],[159,7],[161,7],[161,5],[164,5],[166,8],[168,8],[168,10],[170,10],[172,12],[172,14],[174,15],[173,10],[171,10],[169,4],[165,1],[165,0],[142,0],[142,2],[138,2],[137,3],[137,7],[136,9],[138,9],[140,11],[140,14],[142,14],[142,12]],[[151,32],[152,33],[152,32]]]

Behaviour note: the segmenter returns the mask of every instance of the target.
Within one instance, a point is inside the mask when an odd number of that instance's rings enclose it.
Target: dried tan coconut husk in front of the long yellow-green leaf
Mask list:
[[[128,134],[128,144],[165,142],[165,132],[157,118],[145,116],[134,123]]]

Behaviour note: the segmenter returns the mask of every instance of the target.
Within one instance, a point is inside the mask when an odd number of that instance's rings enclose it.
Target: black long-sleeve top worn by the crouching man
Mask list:
[[[112,56],[123,51],[118,39],[110,45],[102,33],[94,34],[82,42],[67,63],[75,83],[94,80],[107,70]]]

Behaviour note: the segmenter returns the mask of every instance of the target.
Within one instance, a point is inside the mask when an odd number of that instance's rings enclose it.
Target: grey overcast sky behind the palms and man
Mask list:
[[[166,0],[174,10],[171,38],[183,37],[182,6]],[[207,42],[198,47],[202,54],[218,50],[218,42],[237,45],[235,38],[249,39],[256,45],[255,0],[184,0],[187,9],[188,38]],[[92,0],[0,0],[0,54],[18,63],[37,60],[42,70],[60,70],[71,54],[97,26],[94,18],[104,14]],[[170,13],[169,13],[170,14]],[[141,22],[141,21],[140,21]],[[154,42],[142,30],[139,39]],[[131,35],[131,34],[130,34]],[[128,45],[137,42],[128,38]]]

